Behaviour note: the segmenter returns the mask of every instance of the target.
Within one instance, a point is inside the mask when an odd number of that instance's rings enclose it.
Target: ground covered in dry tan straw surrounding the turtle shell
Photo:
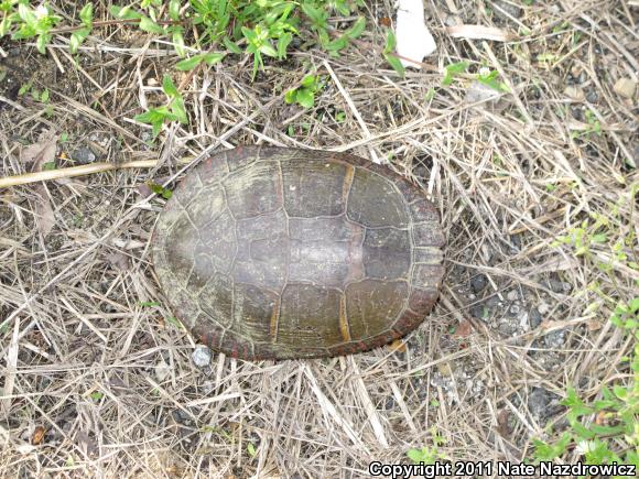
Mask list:
[[[300,50],[256,80],[239,55],[175,72],[165,44],[128,25],[90,37],[77,63],[55,36],[46,55],[0,41],[2,176],[159,160],[0,189],[0,477],[356,478],[424,446],[520,462],[565,429],[567,387],[596,398],[629,380],[632,342],[608,317],[639,280],[638,96],[619,83],[637,81],[637,7],[426,2],[437,51],[400,78],[379,53],[393,13],[378,3],[342,56]],[[456,37],[458,24],[513,40]],[[509,91],[487,95],[481,66]],[[315,106],[286,105],[313,68]],[[153,141],[132,118],[163,101],[164,73],[189,126]],[[172,187],[180,160],[245,143],[378,159],[433,199],[446,277],[403,347],[254,363],[198,350],[196,366],[153,273],[164,199],[148,182]],[[585,253],[555,243],[578,229]]]

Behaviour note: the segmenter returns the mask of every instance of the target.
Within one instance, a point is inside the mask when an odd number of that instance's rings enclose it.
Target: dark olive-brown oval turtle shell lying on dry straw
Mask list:
[[[418,327],[444,275],[423,190],[348,153],[241,145],[188,172],[152,238],[201,342],[245,360],[344,356]]]

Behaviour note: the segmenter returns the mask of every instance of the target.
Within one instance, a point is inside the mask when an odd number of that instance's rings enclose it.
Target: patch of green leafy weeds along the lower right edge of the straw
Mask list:
[[[627,371],[616,374],[611,385],[599,390],[600,398],[582,398],[568,388],[562,404],[567,407],[568,429],[554,442],[534,439],[533,458],[553,460],[566,450],[576,450],[582,460],[592,465],[611,462],[635,465],[639,468],[639,297],[622,297],[625,290],[617,287],[615,268],[639,270],[636,261],[637,237],[620,213],[625,205],[635,205],[639,185],[632,185],[627,195],[615,204],[604,205],[606,214],[591,213],[578,226],[561,236],[554,247],[567,246],[573,254],[591,262],[610,277],[613,287],[593,282],[580,294],[595,294],[584,315],[607,306],[608,320],[633,341],[628,357],[620,358],[617,368]],[[631,206],[632,207],[632,206]],[[639,281],[635,280],[639,287]],[[627,379],[626,379],[626,378]]]

